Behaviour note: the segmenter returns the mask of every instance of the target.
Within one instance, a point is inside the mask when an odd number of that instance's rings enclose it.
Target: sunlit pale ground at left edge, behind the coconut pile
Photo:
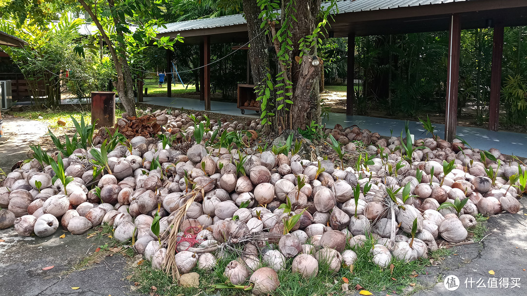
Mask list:
[[[0,168],[6,173],[18,160],[27,158],[29,145],[47,132],[47,125],[41,121],[14,116],[4,116],[4,136],[0,137]]]

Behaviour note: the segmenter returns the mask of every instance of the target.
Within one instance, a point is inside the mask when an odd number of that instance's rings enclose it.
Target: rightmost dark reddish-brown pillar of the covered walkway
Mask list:
[[[497,131],[500,124],[501,59],[503,56],[503,25],[494,26],[492,47],[491,101],[489,105],[489,130]]]

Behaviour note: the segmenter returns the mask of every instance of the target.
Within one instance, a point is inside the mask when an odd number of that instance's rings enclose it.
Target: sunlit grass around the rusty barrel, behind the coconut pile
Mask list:
[[[116,106],[115,114],[119,115],[123,113],[124,110],[119,109]],[[91,123],[91,106],[90,105],[63,105],[58,108],[53,109],[42,109],[38,110],[35,107],[31,107],[27,110],[21,111],[21,112],[13,112],[9,111],[9,115],[13,115],[15,117],[22,117],[26,119],[31,120],[38,120],[46,123],[48,127],[50,127],[53,130],[62,131],[64,129],[70,129],[73,128],[73,121],[71,120],[70,116],[73,116],[77,121],[80,122],[81,116],[84,116],[84,120],[87,123]],[[42,117],[42,119],[38,118]],[[120,116],[119,116],[120,117]],[[118,116],[116,116],[118,118]],[[58,120],[63,120],[66,125],[61,126],[58,125]]]

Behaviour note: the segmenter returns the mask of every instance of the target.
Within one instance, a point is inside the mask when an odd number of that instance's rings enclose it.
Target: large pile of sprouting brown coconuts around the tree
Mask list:
[[[169,117],[163,125],[167,135],[188,118]],[[245,126],[229,123],[219,133],[238,128]],[[182,132],[190,136],[194,131]],[[219,258],[242,247],[225,277],[236,285],[250,282],[254,293],[266,294],[278,287],[278,271],[309,278],[322,265],[333,271],[353,265],[354,250],[367,239],[376,241],[372,260],[386,268],[394,258],[426,258],[438,240],[464,241],[478,213],[520,209],[523,192],[515,186],[518,181],[510,180],[526,168],[505,161],[496,149],[490,151],[493,161],[458,142],[417,139],[414,148],[426,148],[416,149],[409,160],[397,149],[406,139],[338,126],[330,134],[339,141],[369,141],[368,162],[343,170],[333,161],[290,152],[206,147],[207,137],[184,154],[137,136],[109,152],[112,173],[105,170],[95,179],[96,168],[79,161],[82,156],[89,160],[89,151],[77,149],[63,158],[65,175],[73,177],[64,187],[53,182],[50,166],[33,159],[9,173],[0,188],[0,207],[6,208],[0,211],[0,228],[14,225],[21,236],[47,237],[60,226],[83,234],[108,223],[113,237],[133,241],[153,268],[166,270],[173,262],[180,273],[212,270]],[[346,149],[355,149],[349,144]],[[160,167],[151,169],[154,160]],[[452,166],[446,175],[444,161]],[[489,168],[493,179],[486,176]],[[459,211],[441,206],[460,202]],[[294,258],[291,266],[288,258]]]

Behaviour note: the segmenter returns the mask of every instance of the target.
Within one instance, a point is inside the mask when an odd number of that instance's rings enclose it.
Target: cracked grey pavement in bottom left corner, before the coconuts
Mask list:
[[[64,238],[60,238],[62,234]],[[108,238],[87,239],[86,235],[75,236],[62,228],[47,238],[21,237],[14,228],[8,228],[0,230],[0,240],[3,240],[0,241],[0,291],[3,295],[118,296],[129,294],[134,287],[125,279],[129,274],[125,269],[129,259],[121,253],[104,255],[104,251],[100,251],[100,261],[94,260],[98,263],[79,264]],[[53,268],[42,270],[50,266]],[[138,295],[135,291],[133,294]]]

